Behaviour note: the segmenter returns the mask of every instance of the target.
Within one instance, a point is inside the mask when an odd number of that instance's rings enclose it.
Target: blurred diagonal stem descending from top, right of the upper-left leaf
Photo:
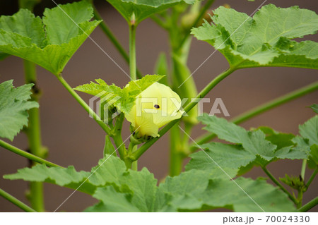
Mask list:
[[[94,17],[95,17],[96,20],[102,20],[102,17],[100,16],[100,13],[98,13],[98,11],[96,10],[95,7],[94,7]],[[110,39],[110,42],[112,42],[112,44],[114,44],[114,47],[117,49],[119,54],[122,55],[122,57],[124,58],[126,63],[129,63],[129,56],[126,53],[126,50],[124,49],[124,47],[122,47],[122,44],[119,43],[117,37],[114,36],[112,31],[108,27],[107,23],[102,21],[102,23],[100,23],[100,28],[102,29],[102,32],[104,32],[105,35]],[[138,70],[138,68],[136,69],[136,73],[137,73],[137,77],[138,78],[142,78],[143,77],[143,75]]]

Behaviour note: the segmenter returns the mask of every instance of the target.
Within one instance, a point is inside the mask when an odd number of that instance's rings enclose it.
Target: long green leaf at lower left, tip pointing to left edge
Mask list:
[[[107,155],[104,159],[100,159],[98,166],[94,166],[91,172],[77,172],[73,166],[57,168],[39,164],[32,168],[19,169],[16,174],[4,175],[4,178],[54,183],[66,188],[78,188],[78,190],[92,195],[100,186],[119,185],[119,179],[125,171],[126,166],[122,160]]]

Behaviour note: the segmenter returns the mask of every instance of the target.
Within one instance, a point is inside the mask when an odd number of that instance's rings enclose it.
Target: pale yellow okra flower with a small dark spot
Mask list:
[[[181,99],[170,87],[153,83],[136,97],[136,104],[125,115],[136,129],[138,138],[145,135],[158,137],[158,130],[165,124],[182,116]]]

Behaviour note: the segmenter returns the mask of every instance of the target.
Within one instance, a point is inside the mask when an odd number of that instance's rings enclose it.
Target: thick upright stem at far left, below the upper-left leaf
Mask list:
[[[37,74],[35,63],[28,60],[23,60],[25,71],[25,83],[33,83],[33,94],[31,99],[35,102],[39,102],[40,90],[37,89]],[[40,110],[33,108],[28,111],[29,121],[26,133],[28,135],[28,143],[30,153],[37,157],[45,158],[47,150],[42,146],[41,140],[41,127],[40,127]],[[31,166],[34,166],[36,162],[32,162]],[[37,212],[45,212],[44,195],[43,195],[43,183],[30,182],[30,203]]]

